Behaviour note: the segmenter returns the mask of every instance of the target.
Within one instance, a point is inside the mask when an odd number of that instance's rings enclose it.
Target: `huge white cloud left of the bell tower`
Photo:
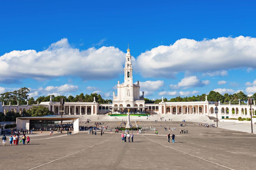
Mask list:
[[[103,46],[79,50],[72,48],[64,38],[43,51],[14,50],[0,56],[0,81],[44,80],[58,76],[78,76],[83,80],[109,79],[122,73],[124,63],[125,53],[118,48]]]

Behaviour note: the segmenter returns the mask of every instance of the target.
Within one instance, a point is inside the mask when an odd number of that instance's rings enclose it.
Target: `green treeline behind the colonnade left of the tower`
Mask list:
[[[37,104],[37,102],[41,103],[41,102],[49,102],[50,101],[50,96],[53,97],[53,102],[59,102],[61,98],[64,98],[66,102],[93,102],[94,101],[94,97],[96,102],[100,103],[100,104],[108,104],[108,103],[112,103],[112,100],[110,99],[103,99],[101,97],[100,94],[97,93],[91,93],[89,94],[85,94],[81,93],[79,95],[74,96],[54,96],[54,95],[48,95],[48,96],[39,96],[36,100],[31,97],[29,98],[29,89],[24,87],[24,88],[20,88],[19,90],[15,90],[13,92],[5,92],[0,94],[0,101],[4,102],[5,105],[9,105],[9,102],[11,102],[11,105],[17,105],[19,102],[19,105],[26,105],[27,101],[29,105],[32,104]]]

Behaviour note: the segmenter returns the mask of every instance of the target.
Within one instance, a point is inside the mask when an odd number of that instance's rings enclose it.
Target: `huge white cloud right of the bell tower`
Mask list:
[[[220,37],[202,41],[184,38],[173,45],[160,45],[141,53],[137,67],[144,77],[170,78],[183,71],[224,76],[228,69],[255,68],[256,62],[252,62],[255,59],[256,38]]]

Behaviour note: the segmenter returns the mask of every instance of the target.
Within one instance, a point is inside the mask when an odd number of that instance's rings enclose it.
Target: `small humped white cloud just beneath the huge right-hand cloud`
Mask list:
[[[187,89],[190,87],[202,87],[204,85],[208,85],[210,83],[209,80],[201,81],[197,76],[189,76],[181,79],[178,84],[170,84],[171,89]]]

